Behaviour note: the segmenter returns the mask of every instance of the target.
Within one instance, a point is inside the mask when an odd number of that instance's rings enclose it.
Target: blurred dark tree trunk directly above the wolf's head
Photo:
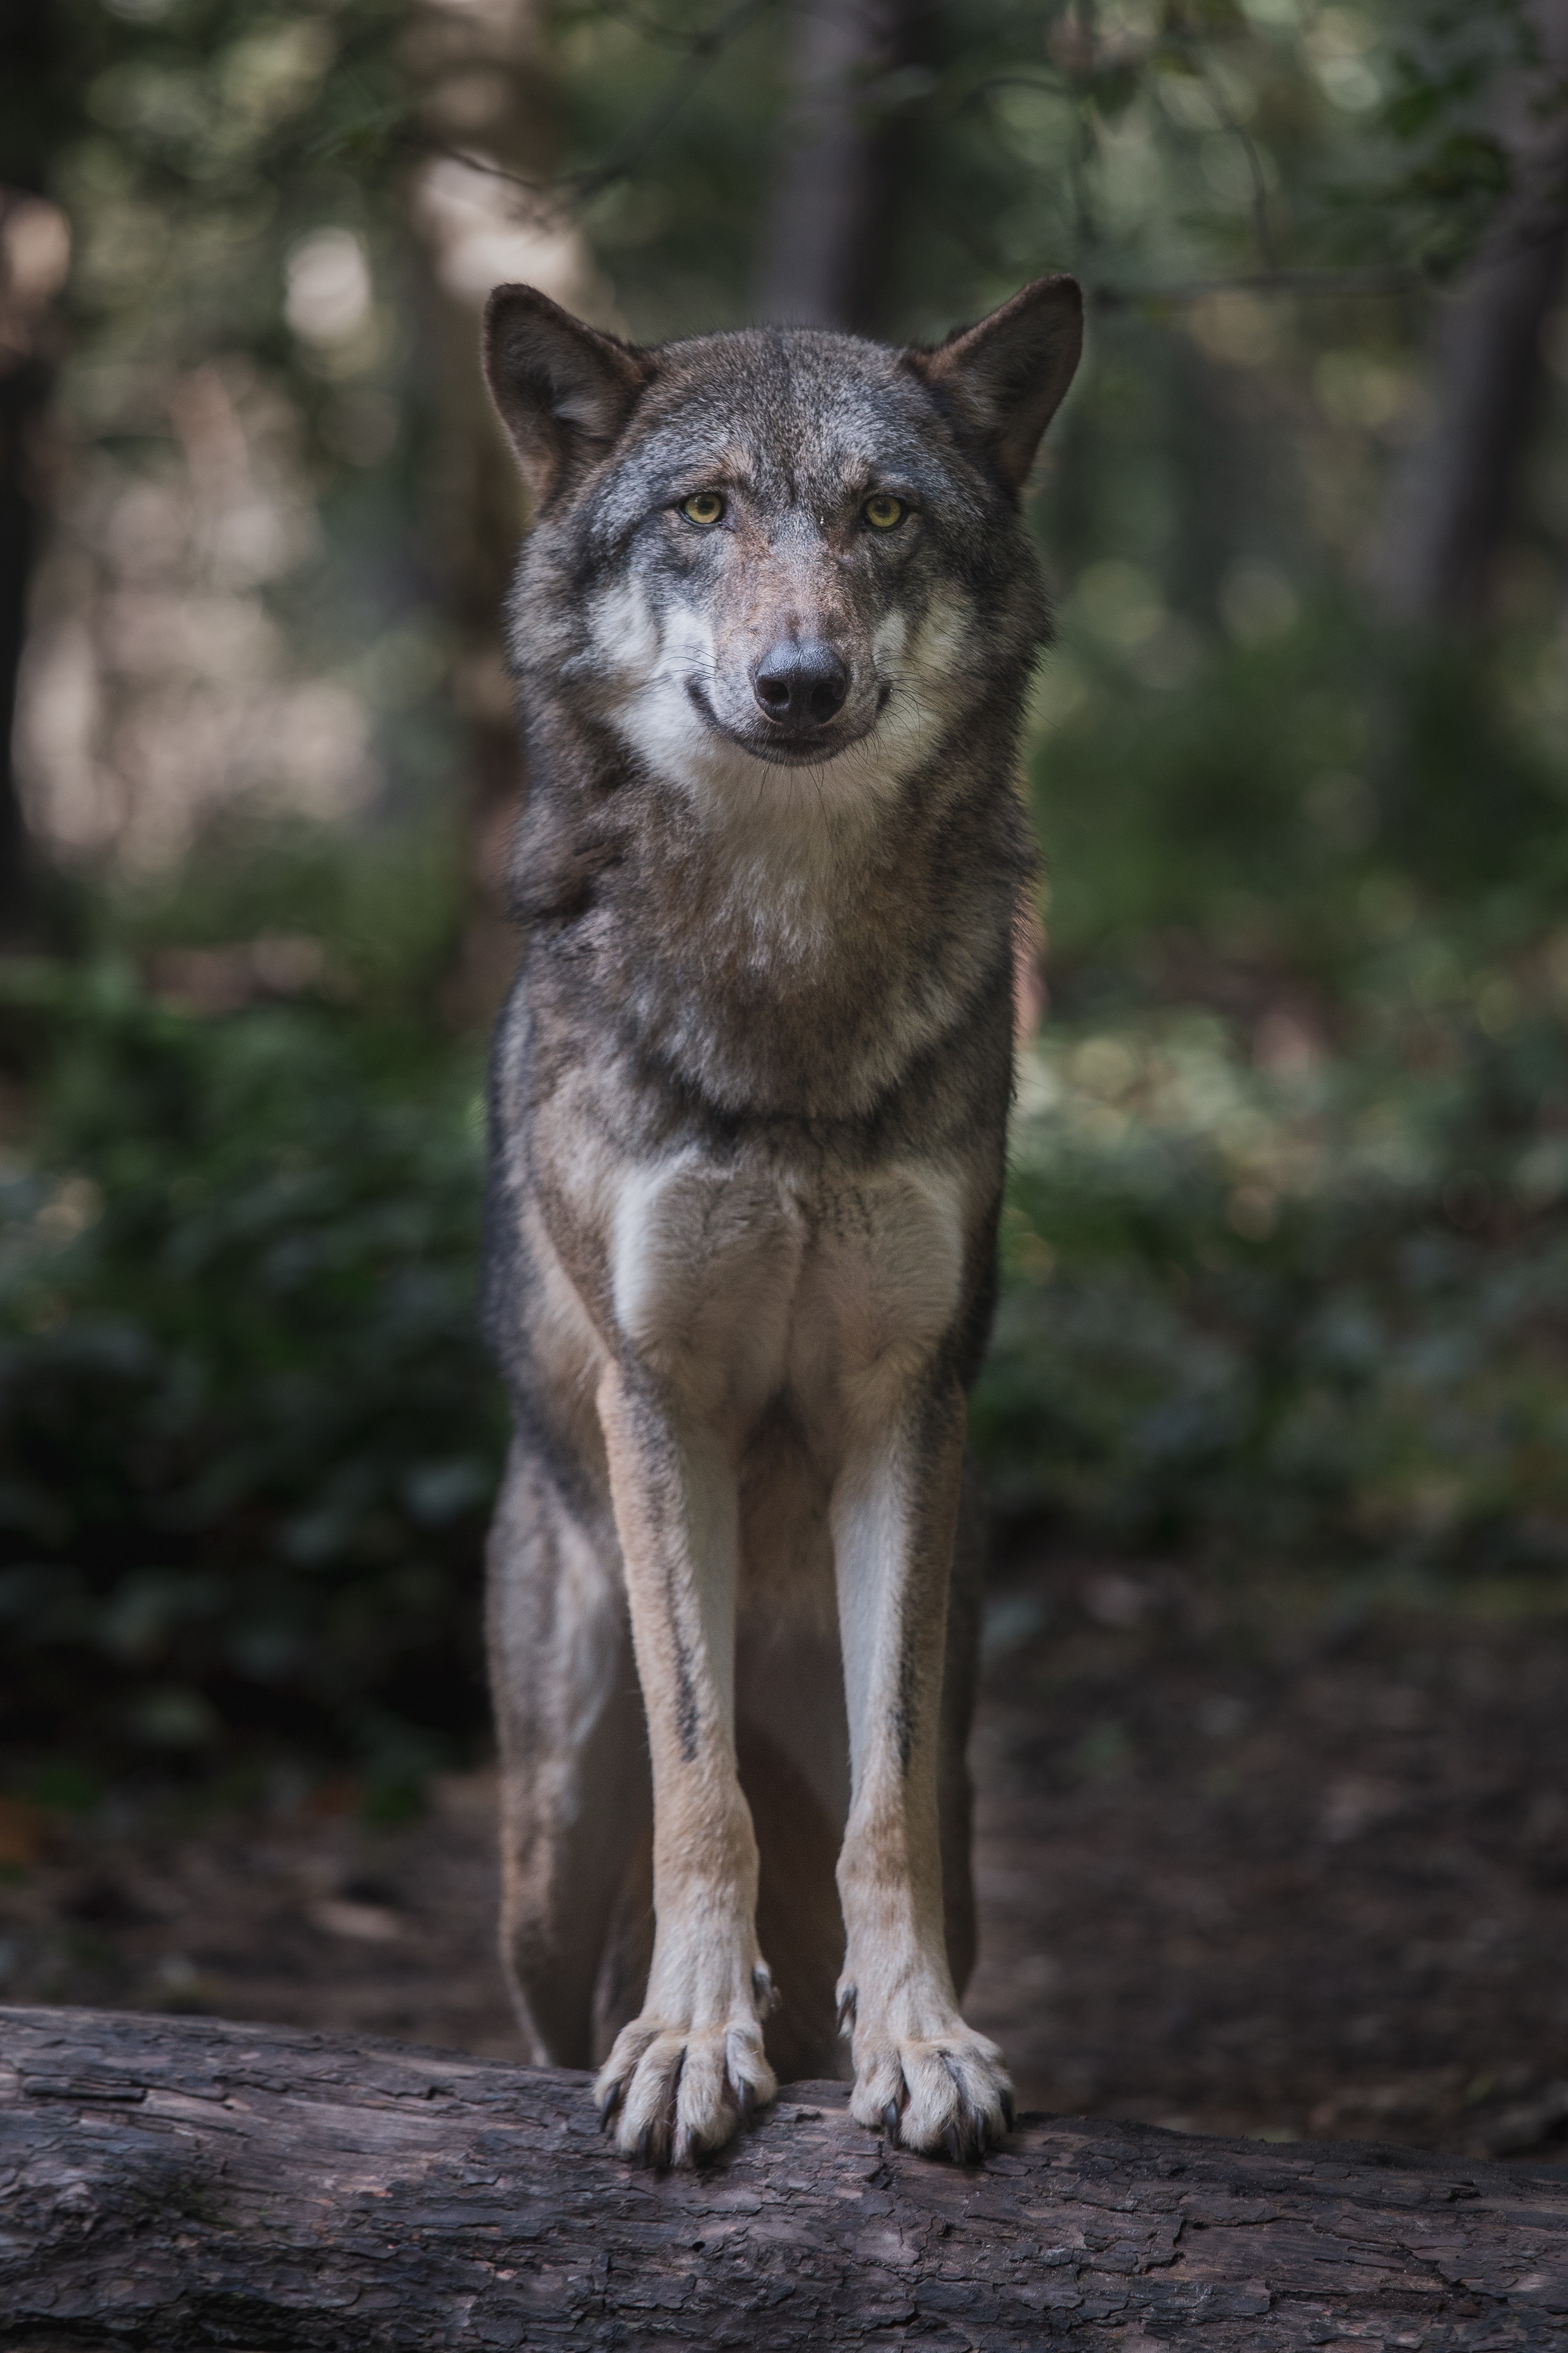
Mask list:
[[[790,82],[757,266],[757,318],[875,334],[889,282],[893,134],[875,82],[910,0],[795,0]]]

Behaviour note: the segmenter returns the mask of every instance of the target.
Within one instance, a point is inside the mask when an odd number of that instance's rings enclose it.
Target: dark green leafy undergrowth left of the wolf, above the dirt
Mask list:
[[[2,976],[0,1704],[122,1758],[280,1737],[397,1781],[484,1727],[477,1068],[428,1024]]]

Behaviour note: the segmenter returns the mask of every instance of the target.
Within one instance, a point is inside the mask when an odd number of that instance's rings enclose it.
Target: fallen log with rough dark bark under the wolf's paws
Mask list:
[[[792,2085],[698,2174],[588,2078],[0,2009],[0,2344],[158,2353],[1568,2346],[1568,2179],[1027,2115],[933,2165]]]

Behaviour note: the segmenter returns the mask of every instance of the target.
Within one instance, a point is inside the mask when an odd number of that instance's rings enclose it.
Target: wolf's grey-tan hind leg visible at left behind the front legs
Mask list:
[[[489,1661],[501,1960],[534,2064],[592,2066],[599,1958],[649,1826],[642,1694],[614,1534],[595,1544],[522,1442],[489,1539]]]

